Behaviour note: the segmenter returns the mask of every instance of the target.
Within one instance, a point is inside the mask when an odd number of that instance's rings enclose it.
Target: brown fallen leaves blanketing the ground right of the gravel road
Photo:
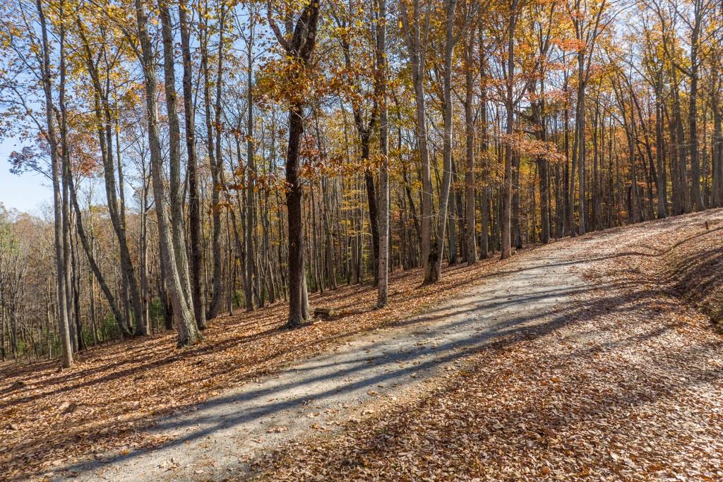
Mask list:
[[[723,480],[722,338],[659,277],[722,215],[585,236],[591,289],[553,330],[497,340],[418,400],[283,447],[257,478]]]

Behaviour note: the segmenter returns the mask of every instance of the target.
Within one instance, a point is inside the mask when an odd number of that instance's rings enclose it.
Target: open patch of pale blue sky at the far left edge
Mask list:
[[[10,172],[10,152],[20,150],[17,139],[0,141],[0,203],[33,215],[40,215],[43,205],[52,200],[50,181],[37,173],[22,173],[17,176]]]

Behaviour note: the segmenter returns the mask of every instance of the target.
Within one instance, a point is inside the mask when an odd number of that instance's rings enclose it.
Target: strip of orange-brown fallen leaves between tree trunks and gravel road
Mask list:
[[[166,333],[89,350],[62,371],[56,362],[0,366],[0,478],[25,479],[83,457],[163,444],[142,431],[157,416],[191,408],[340,337],[406,319],[504,265],[490,259],[448,267],[440,283],[424,287],[419,270],[396,272],[382,310],[372,310],[376,290],[368,285],[312,296],[312,306],[340,315],[298,330],[281,329],[288,311],[280,302],[213,320],[202,343],[186,350],[176,350],[175,335]]]

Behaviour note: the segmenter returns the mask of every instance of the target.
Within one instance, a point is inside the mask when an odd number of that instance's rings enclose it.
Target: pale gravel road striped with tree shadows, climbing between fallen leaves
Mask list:
[[[674,230],[675,221],[660,226]],[[590,287],[581,273],[629,238],[629,231],[614,230],[523,254],[505,272],[422,317],[342,340],[328,353],[161,419],[153,434],[169,442],[159,449],[71,465],[57,480],[238,477],[249,469],[248,460],[283,442],[313,434],[328,438],[338,423],[426,390],[492,340],[556,330]],[[585,333],[576,336],[580,345],[590,341]]]

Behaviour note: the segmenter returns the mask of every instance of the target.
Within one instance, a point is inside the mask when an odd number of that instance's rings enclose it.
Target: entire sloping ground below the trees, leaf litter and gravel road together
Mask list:
[[[693,304],[719,313],[722,234],[711,210],[397,273],[384,310],[340,288],[300,330],[277,304],[187,350],[4,366],[0,478],[721,480],[722,338]]]

